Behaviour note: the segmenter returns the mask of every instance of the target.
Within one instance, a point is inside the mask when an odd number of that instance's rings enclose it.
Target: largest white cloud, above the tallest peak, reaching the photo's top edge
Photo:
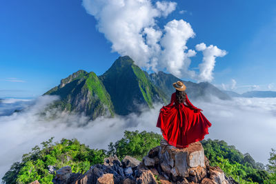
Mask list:
[[[146,44],[144,30],[153,29],[155,18],[166,17],[175,10],[176,3],[157,1],[155,6],[150,0],[83,0],[83,6],[97,19],[97,28],[112,43],[113,52],[129,55],[137,65],[145,67],[158,52]]]

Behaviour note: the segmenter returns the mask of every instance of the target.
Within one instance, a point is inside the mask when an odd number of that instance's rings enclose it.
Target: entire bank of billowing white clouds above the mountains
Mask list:
[[[198,79],[198,74],[189,70],[190,57],[196,54],[195,50],[186,46],[188,39],[195,37],[190,23],[181,19],[168,21],[164,28],[157,25],[158,19],[167,17],[176,6],[177,3],[172,1],[83,0],[88,14],[97,19],[99,32],[112,43],[112,52],[129,55],[139,67],[146,70],[165,70],[178,77]],[[208,58],[200,65],[201,81],[213,79],[210,77],[212,74],[208,73],[213,72],[215,66],[215,58],[211,58],[222,56],[217,53],[218,50],[213,45],[206,51],[202,50]]]

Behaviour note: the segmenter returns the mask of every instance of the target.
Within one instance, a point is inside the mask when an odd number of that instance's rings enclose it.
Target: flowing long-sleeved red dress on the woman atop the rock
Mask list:
[[[186,104],[178,103],[173,93],[170,104],[160,110],[157,127],[161,128],[164,139],[175,147],[188,147],[190,143],[201,141],[212,124],[198,108],[190,103],[186,95]]]

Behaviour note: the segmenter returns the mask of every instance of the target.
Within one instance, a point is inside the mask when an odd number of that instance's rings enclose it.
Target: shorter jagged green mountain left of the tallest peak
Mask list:
[[[110,95],[94,72],[79,70],[45,94],[60,96],[53,106],[64,111],[84,112],[91,119],[114,115]]]

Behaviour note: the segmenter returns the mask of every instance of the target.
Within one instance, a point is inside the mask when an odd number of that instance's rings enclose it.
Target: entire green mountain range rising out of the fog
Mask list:
[[[58,95],[60,99],[51,106],[68,112],[84,112],[90,119],[98,116],[127,115],[153,107],[153,103],[167,104],[175,92],[172,83],[181,81],[172,74],[148,74],[128,56],[119,57],[101,76],[79,70],[44,95]],[[230,99],[210,83],[184,81],[191,99],[214,95]],[[51,108],[50,107],[50,108]]]

